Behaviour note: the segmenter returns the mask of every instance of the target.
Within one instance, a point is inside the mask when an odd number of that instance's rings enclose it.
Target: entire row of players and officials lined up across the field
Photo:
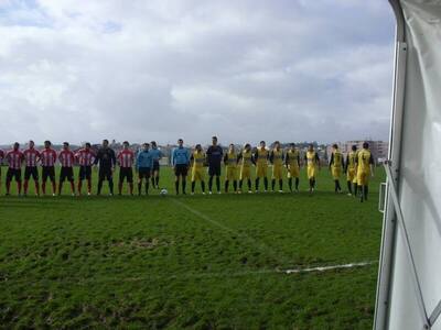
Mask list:
[[[142,145],[142,150],[135,154],[130,150],[129,143],[123,142],[123,148],[118,155],[109,147],[107,140],[103,141],[101,147],[95,154],[89,143],[85,144],[84,148],[76,152],[71,151],[67,142],[63,143],[63,150],[57,154],[52,147],[51,142],[44,142],[44,148],[37,151],[34,142],[30,141],[29,148],[24,152],[20,151],[19,143],[14,143],[13,150],[8,153],[0,151],[0,161],[4,157],[8,161],[9,168],[7,173],[7,195],[10,194],[10,185],[12,179],[18,184],[18,193],[22,190],[21,167],[25,164],[24,168],[24,184],[23,194],[28,194],[29,180],[32,178],[35,184],[35,193],[40,195],[39,170],[37,165],[42,166],[42,193],[46,194],[46,182],[50,179],[52,183],[52,194],[56,194],[55,182],[55,162],[58,160],[61,163],[61,173],[58,180],[58,195],[62,193],[63,183],[65,180],[71,183],[72,195],[75,195],[74,170],[75,164],[79,165],[77,194],[82,193],[82,185],[87,180],[87,194],[92,194],[92,167],[99,165],[98,173],[98,188],[97,195],[100,195],[103,182],[108,180],[110,195],[114,194],[112,174],[116,165],[120,166],[118,193],[121,195],[122,184],[128,182],[129,193],[133,195],[133,165],[138,173],[138,194],[141,195],[142,183],[144,182],[146,194],[149,194],[150,180],[154,188],[159,188],[159,161],[162,157],[160,150],[155,142]],[[217,193],[220,194],[220,168],[222,163],[226,167],[225,193],[228,193],[230,184],[235,193],[243,191],[244,184],[248,187],[248,193],[251,190],[251,167],[256,167],[255,191],[259,191],[260,180],[263,182],[263,191],[268,191],[268,167],[272,165],[271,175],[271,190],[275,191],[276,184],[279,185],[279,191],[283,191],[283,166],[288,169],[288,186],[290,191],[299,191],[300,180],[300,152],[292,143],[287,152],[283,152],[278,141],[275,142],[272,150],[266,147],[265,141],[256,150],[251,150],[249,143],[245,144],[244,148],[239,152],[236,151],[235,145],[230,144],[228,152],[223,152],[223,148],[217,144],[217,138],[213,136],[212,145],[206,152],[202,150],[201,144],[195,146],[193,152],[190,152],[183,146],[183,140],[178,141],[178,147],[172,152],[172,165],[175,174],[175,191],[180,193],[180,182],[182,193],[185,194],[186,177],[191,176],[192,194],[194,194],[196,182],[201,183],[203,194],[205,194],[205,169],[208,167],[208,194],[213,194],[213,180],[216,178]],[[304,163],[309,178],[309,190],[312,194],[315,188],[315,180],[318,170],[321,169],[321,162],[319,154],[314,151],[313,145],[309,146],[304,155]],[[373,156],[368,150],[368,144],[363,145],[362,151],[357,151],[353,146],[352,152],[344,161],[343,154],[336,144],[333,145],[331,161],[329,163],[330,170],[335,183],[335,193],[341,193],[340,177],[342,172],[347,177],[348,195],[357,195],[359,191],[361,200],[367,199],[368,194],[368,177],[374,175],[373,170]],[[1,176],[0,176],[1,177]],[[293,187],[294,184],[294,187]],[[354,187],[354,189],[353,189]]]

